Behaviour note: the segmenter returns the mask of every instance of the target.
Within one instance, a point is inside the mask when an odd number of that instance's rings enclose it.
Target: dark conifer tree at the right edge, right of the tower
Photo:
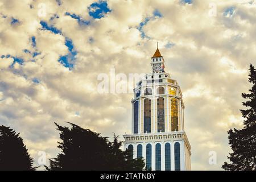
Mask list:
[[[235,170],[256,170],[256,70],[250,65],[249,82],[253,87],[249,93],[242,93],[247,101],[243,105],[246,110],[241,110],[243,128],[240,130],[230,129],[229,144],[233,153],[228,156],[230,163],[225,162],[222,168],[229,171]]]

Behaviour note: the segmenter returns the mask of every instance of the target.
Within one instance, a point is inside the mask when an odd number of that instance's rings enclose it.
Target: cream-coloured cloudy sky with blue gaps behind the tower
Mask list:
[[[59,152],[53,122],[130,133],[133,94],[100,94],[97,76],[151,72],[159,42],[183,91],[192,169],[221,169],[226,131],[242,126],[255,22],[251,0],[1,0],[0,124],[20,133],[35,165],[39,151]]]

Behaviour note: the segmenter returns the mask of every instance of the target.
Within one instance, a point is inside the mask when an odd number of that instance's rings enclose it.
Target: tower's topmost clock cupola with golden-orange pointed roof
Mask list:
[[[163,56],[161,55],[158,47],[157,47],[154,55],[151,57],[151,66],[152,66],[153,73],[164,72],[164,59],[163,59]]]

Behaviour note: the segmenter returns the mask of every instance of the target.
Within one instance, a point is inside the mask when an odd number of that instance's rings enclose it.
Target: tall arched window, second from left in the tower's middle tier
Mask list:
[[[151,100],[144,99],[144,133],[151,132]]]

